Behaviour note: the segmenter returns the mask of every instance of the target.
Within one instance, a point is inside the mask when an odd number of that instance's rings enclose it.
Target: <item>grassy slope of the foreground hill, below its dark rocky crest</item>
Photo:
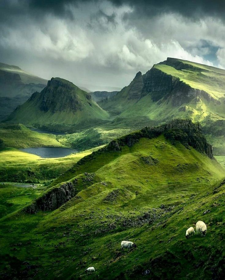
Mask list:
[[[143,157],[149,154],[158,161],[146,164]],[[150,268],[153,279],[185,279],[187,274],[212,279],[213,271],[207,270],[212,268],[210,262],[224,254],[223,224],[216,225],[214,218],[221,216],[225,207],[225,189],[222,186],[213,193],[212,187],[224,170],[215,160],[180,143],[171,145],[159,136],[142,138],[119,153],[98,153],[61,179],[73,176],[81,191],[61,208],[1,220],[2,269],[10,264],[24,271],[26,265],[20,261],[26,260],[39,265],[36,276],[34,270],[28,271],[32,278],[77,279],[82,275],[83,279],[95,279],[99,275],[100,279],[148,279],[149,275],[141,273]],[[168,211],[161,209],[161,204]],[[211,213],[204,216],[206,209]],[[186,240],[187,227],[199,219],[208,224],[206,238]],[[137,249],[121,253],[122,240],[135,241]],[[13,248],[10,244],[19,242],[22,245],[14,245],[17,250],[7,257]],[[17,259],[13,261],[12,256]],[[151,259],[155,259],[154,266]],[[84,275],[88,266],[96,268],[94,276]],[[171,270],[176,271],[173,276]]]

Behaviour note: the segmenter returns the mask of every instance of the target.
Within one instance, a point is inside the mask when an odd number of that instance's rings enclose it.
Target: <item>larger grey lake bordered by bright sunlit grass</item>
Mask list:
[[[61,147],[34,147],[20,149],[23,152],[37,155],[39,157],[66,157],[72,153],[77,153],[78,150]]]

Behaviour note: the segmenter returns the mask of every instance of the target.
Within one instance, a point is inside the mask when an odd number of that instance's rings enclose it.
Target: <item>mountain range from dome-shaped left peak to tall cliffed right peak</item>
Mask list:
[[[92,128],[99,137],[98,143],[104,144],[105,142],[101,140],[101,131],[108,131],[115,137],[111,131],[140,129],[145,125],[166,123],[174,118],[190,119],[202,124],[207,139],[214,144],[215,152],[225,154],[223,69],[167,58],[166,61],[153,65],[143,75],[138,72],[133,81],[119,92],[88,94],[83,91],[85,96],[92,96],[92,101],[87,98],[78,101],[79,98],[77,100],[75,98],[73,102],[80,104],[75,106],[76,112],[72,108],[73,105],[71,107],[69,97],[64,98],[62,95],[62,88],[66,87],[66,83],[69,82],[64,80],[60,90],[57,86],[52,88],[54,93],[51,100],[45,100],[44,97],[48,86],[40,96],[37,93],[33,94],[6,121],[69,133],[77,132],[77,129],[84,131]],[[78,90],[78,87],[76,88]],[[69,93],[68,90],[65,91]],[[71,98],[73,99],[72,96]],[[43,102],[46,102],[45,106]],[[33,113],[28,114],[28,111]],[[89,138],[90,132],[87,134]],[[96,139],[94,134],[93,138]],[[92,144],[91,141],[88,147],[92,147]]]

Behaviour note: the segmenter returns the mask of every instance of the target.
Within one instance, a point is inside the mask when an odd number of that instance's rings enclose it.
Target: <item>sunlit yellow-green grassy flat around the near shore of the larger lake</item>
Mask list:
[[[6,148],[0,151],[0,181],[46,182],[61,175],[93,150],[85,150],[67,157],[41,158],[14,148]]]

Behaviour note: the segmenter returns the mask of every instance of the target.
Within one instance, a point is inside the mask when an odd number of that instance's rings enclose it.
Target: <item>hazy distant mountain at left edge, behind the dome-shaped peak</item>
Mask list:
[[[0,63],[0,120],[46,85],[47,80],[27,73],[18,66]]]

